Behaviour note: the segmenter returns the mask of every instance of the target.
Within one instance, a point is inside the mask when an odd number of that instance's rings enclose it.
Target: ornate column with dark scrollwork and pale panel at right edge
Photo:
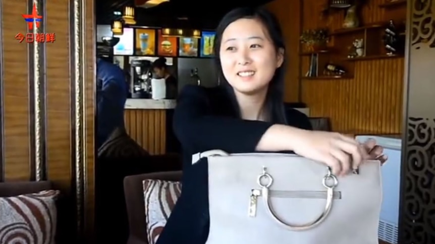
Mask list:
[[[408,1],[399,243],[435,242],[435,1]]]

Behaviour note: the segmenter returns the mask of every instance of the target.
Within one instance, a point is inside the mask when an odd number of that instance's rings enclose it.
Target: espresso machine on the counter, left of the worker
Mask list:
[[[151,98],[151,61],[139,59],[132,60],[130,67],[131,98]]]

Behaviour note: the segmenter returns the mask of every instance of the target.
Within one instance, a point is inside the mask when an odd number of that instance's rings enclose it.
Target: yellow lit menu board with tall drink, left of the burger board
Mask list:
[[[154,29],[136,29],[136,46],[134,55],[155,55],[155,31]]]

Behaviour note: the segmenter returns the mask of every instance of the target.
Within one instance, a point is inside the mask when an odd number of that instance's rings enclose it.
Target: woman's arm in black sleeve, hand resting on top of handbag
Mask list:
[[[294,151],[324,162],[336,175],[348,174],[351,167],[356,169],[368,157],[355,139],[336,132],[307,130],[310,125],[306,116],[295,116],[299,117],[295,117],[296,121],[305,121],[300,127],[306,129],[216,116],[211,113],[203,88],[191,86],[181,93],[174,114],[174,130],[183,148],[192,153],[211,149],[229,153]]]

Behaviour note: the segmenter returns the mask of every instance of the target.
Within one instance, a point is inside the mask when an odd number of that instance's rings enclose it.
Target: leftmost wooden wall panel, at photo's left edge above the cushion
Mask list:
[[[4,175],[7,181],[30,180],[29,79],[27,43],[18,42],[25,34],[27,1],[2,1]]]

